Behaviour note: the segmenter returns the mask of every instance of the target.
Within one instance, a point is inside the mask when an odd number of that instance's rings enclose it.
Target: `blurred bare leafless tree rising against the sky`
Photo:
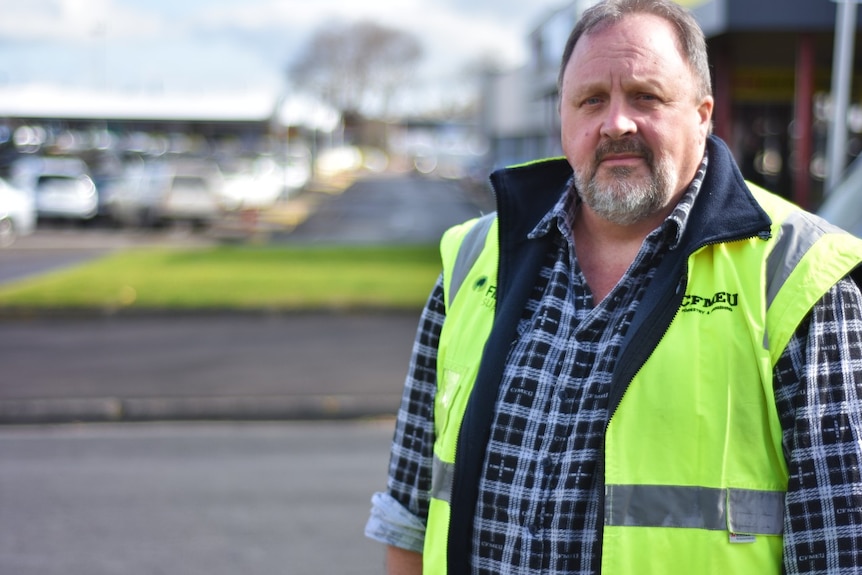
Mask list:
[[[327,24],[288,70],[294,84],[346,114],[386,113],[422,57],[407,32],[374,22]]]

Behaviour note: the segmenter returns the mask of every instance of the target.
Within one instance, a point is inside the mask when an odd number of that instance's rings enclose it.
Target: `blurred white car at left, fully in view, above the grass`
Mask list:
[[[13,165],[12,181],[32,196],[39,218],[90,220],[98,213],[96,184],[79,158],[25,158]]]

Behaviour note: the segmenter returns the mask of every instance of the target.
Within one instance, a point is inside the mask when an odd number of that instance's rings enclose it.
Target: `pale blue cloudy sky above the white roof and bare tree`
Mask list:
[[[0,0],[0,88],[134,94],[277,92],[327,23],[371,20],[423,47],[416,81],[526,58],[529,32],[566,0]]]

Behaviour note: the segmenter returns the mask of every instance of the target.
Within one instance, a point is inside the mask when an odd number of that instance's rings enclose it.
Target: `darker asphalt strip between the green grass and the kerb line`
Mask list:
[[[0,423],[393,414],[417,314],[0,320]]]

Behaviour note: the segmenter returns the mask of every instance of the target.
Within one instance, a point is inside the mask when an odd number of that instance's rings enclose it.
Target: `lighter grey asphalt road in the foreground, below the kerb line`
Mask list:
[[[0,573],[383,573],[389,421],[0,428]]]

